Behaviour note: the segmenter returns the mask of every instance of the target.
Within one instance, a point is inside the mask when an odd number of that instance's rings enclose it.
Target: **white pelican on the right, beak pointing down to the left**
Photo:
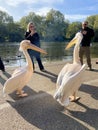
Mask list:
[[[57,78],[57,90],[54,94],[54,98],[64,106],[69,104],[70,98],[73,101],[79,98],[76,97],[76,91],[82,83],[81,78],[86,67],[85,64],[81,66],[79,60],[79,46],[82,38],[82,33],[78,32],[67,45],[66,49],[70,48],[73,44],[76,44],[73,52],[73,63],[66,64]]]

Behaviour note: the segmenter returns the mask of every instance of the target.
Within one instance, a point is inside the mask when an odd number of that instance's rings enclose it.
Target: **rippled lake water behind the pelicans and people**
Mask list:
[[[41,42],[41,48],[48,53],[47,55],[41,55],[42,61],[71,60],[73,47],[65,50],[66,44],[67,42]],[[19,43],[0,43],[0,56],[6,66],[21,66],[25,64],[25,57],[19,51]],[[98,57],[98,43],[92,44],[91,57]]]

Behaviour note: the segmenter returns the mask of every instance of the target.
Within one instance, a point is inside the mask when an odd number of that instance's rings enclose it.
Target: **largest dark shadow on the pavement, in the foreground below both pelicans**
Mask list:
[[[64,107],[48,93],[41,91],[36,95],[38,97],[31,97],[22,103],[8,101],[24,120],[33,125],[32,128],[35,126],[41,130],[89,130],[68,114],[64,114]]]

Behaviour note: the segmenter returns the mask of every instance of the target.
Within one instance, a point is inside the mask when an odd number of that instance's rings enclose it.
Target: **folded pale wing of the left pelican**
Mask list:
[[[32,72],[24,70],[10,77],[4,84],[3,93],[10,94],[17,89],[22,89],[30,80]]]

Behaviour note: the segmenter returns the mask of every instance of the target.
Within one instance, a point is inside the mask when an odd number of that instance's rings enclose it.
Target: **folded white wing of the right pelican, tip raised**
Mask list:
[[[62,82],[54,94],[54,98],[62,105],[66,105],[69,96],[73,95],[79,89],[85,67],[86,65],[84,64],[78,71],[70,71],[63,76]]]

